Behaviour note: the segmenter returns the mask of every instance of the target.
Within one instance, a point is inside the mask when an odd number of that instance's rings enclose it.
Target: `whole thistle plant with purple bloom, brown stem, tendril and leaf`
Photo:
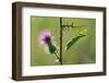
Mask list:
[[[59,50],[57,49],[58,47],[55,46],[52,42],[52,34],[49,31],[43,31],[39,35],[39,39],[43,44],[47,45],[48,51],[51,55],[55,55],[57,60],[59,61],[60,64],[62,64],[62,33],[64,32],[63,27],[78,27],[74,26],[73,23],[72,25],[62,25],[62,17],[60,17],[60,54]],[[85,33],[85,34],[84,34]],[[82,37],[86,36],[87,31],[84,29],[77,36],[71,37],[70,40],[68,40],[65,48],[65,51],[68,51],[78,39]]]

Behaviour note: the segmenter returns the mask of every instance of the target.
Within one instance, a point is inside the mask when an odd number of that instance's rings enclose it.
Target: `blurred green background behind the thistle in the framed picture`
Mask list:
[[[96,20],[81,17],[62,17],[62,24],[72,24],[73,27],[63,29],[62,61],[63,64],[81,64],[96,62]],[[47,52],[47,46],[40,44],[39,35],[43,31],[51,32],[52,44],[60,49],[60,17],[31,16],[31,66],[58,66],[55,55]],[[69,50],[66,43],[78,34],[86,36],[78,39]],[[60,52],[60,50],[59,50]]]

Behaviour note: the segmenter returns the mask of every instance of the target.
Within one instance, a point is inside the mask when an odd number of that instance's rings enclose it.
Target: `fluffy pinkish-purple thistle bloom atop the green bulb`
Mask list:
[[[49,31],[44,31],[41,32],[41,34],[39,35],[39,39],[41,43],[44,44],[48,44],[51,42],[51,33]]]

